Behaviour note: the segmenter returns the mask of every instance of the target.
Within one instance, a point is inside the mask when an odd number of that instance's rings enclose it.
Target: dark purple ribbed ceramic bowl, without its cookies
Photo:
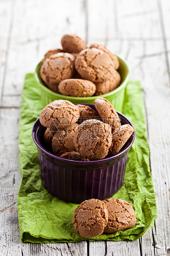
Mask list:
[[[93,104],[86,104],[95,110]],[[121,124],[132,123],[117,112]],[[135,131],[121,151],[115,156],[97,161],[73,161],[63,159],[44,148],[43,134],[46,128],[39,118],[35,121],[32,136],[38,149],[40,177],[45,189],[58,199],[80,204],[95,198],[112,197],[123,185],[128,151],[135,139]]]

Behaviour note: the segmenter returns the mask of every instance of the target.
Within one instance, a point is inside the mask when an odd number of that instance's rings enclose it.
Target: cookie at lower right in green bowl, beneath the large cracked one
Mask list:
[[[114,89],[116,89],[119,86],[120,82],[121,82],[121,76],[115,70],[112,73],[112,76],[110,79],[107,79],[100,83],[95,83],[95,86],[96,86],[95,96],[112,92]]]

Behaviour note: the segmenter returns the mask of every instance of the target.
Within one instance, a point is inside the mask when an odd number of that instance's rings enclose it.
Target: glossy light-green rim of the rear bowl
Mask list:
[[[105,94],[102,94],[102,95],[91,96],[91,97],[72,97],[72,96],[63,95],[63,94],[59,94],[59,93],[51,91],[49,88],[47,88],[42,83],[42,81],[38,78],[38,75],[37,75],[38,69],[40,67],[40,64],[41,64],[42,60],[37,64],[37,66],[35,68],[34,77],[35,77],[35,80],[37,81],[37,83],[42,88],[42,90],[45,90],[47,93],[50,93],[51,95],[56,96],[56,97],[61,97],[63,99],[65,99],[65,97],[67,97],[68,100],[69,99],[70,100],[71,99],[72,100],[80,100],[80,102],[81,102],[82,98],[83,98],[83,100],[85,100],[85,99],[87,99],[87,100],[95,100],[96,97],[103,97],[103,98],[109,97],[110,95],[114,95],[114,94],[118,93],[120,90],[122,90],[127,85],[128,81],[129,81],[129,78],[130,78],[130,70],[129,70],[127,62],[124,59],[122,59],[119,55],[117,55],[115,53],[114,53],[114,55],[116,55],[118,57],[119,61],[121,61],[124,64],[124,66],[126,67],[127,76],[125,78],[125,81],[121,85],[119,85],[115,90],[112,90],[111,92],[108,92],[108,93],[105,93]]]

